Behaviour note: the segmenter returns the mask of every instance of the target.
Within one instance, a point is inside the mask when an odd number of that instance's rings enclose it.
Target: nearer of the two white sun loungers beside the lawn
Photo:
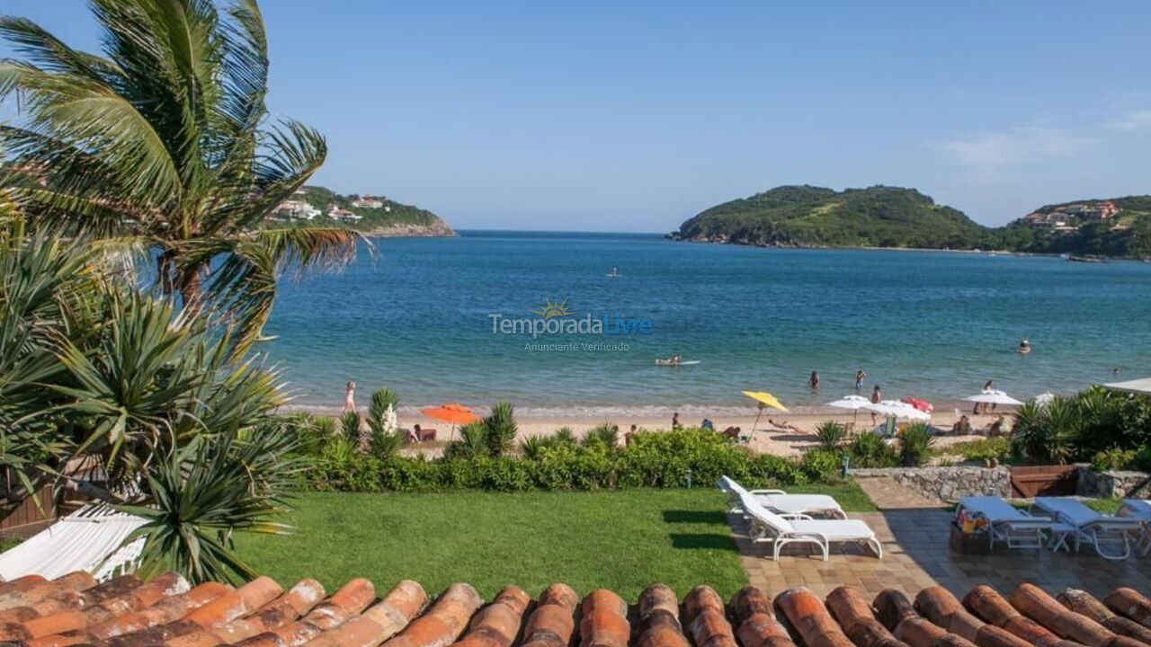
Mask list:
[[[771,542],[772,560],[779,561],[779,550],[788,543],[814,543],[828,561],[831,543],[861,542],[883,560],[883,546],[868,525],[859,519],[813,519],[807,515],[776,515],[749,494],[740,495],[744,511],[750,519],[752,541]]]

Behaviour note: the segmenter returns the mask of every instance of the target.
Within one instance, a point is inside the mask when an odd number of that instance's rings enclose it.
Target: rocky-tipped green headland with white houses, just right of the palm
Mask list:
[[[266,222],[283,227],[340,224],[365,236],[456,236],[456,231],[428,210],[382,196],[336,193],[325,187],[303,187],[280,204]]]

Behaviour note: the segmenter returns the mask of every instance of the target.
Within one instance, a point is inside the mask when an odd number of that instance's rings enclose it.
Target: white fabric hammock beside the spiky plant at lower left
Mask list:
[[[90,503],[20,546],[0,554],[0,580],[28,574],[54,579],[87,571],[98,580],[134,570],[144,538],[121,547],[145,520],[105,503]]]

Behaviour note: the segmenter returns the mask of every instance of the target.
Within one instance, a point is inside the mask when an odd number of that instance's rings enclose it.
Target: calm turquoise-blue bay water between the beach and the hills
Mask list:
[[[612,266],[623,274],[609,279]],[[1151,374],[1151,264],[868,250],[771,250],[651,235],[468,231],[375,242],[338,274],[285,283],[265,347],[297,402],[396,389],[409,405],[509,399],[540,412],[744,405],[742,389],[814,406],[856,368],[884,397],[937,403],[989,379],[1016,397]],[[549,335],[529,351],[494,313],[563,302],[650,334]],[[1035,348],[1014,352],[1021,337]],[[679,352],[701,364],[657,367]],[[807,388],[817,370],[821,393]],[[361,395],[363,398],[363,395]]]

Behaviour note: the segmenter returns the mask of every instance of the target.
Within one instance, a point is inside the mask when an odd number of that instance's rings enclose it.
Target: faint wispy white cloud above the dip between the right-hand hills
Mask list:
[[[1052,158],[1072,158],[1096,143],[1093,137],[1054,128],[1021,128],[1003,132],[982,132],[937,144],[954,161],[980,174],[994,174],[1006,167],[1035,163]]]

